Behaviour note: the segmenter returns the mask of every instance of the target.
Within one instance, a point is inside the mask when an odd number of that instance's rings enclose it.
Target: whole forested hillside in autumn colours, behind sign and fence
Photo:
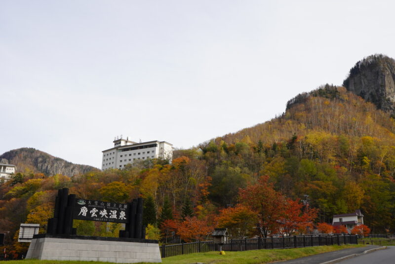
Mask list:
[[[310,234],[334,214],[361,209],[373,232],[395,232],[395,120],[345,87],[296,96],[268,122],[177,150],[171,164],[146,160],[122,170],[16,174],[0,185],[0,231],[44,225],[56,189],[81,198],[145,198],[149,238]],[[116,236],[120,226],[75,221],[79,234]],[[336,230],[335,230],[336,231]],[[344,230],[337,230],[342,232]],[[14,237],[14,241],[12,241]]]

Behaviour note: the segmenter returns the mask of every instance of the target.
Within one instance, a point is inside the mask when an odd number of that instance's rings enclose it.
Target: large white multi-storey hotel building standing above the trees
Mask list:
[[[129,138],[115,139],[114,148],[102,151],[102,170],[109,168],[123,168],[127,164],[139,160],[153,158],[166,158],[171,160],[173,157],[173,145],[165,141],[149,141],[136,143]]]

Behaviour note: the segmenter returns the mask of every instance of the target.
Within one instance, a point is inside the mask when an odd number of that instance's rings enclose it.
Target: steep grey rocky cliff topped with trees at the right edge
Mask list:
[[[372,102],[378,109],[395,115],[395,60],[371,55],[351,68],[343,86]]]

